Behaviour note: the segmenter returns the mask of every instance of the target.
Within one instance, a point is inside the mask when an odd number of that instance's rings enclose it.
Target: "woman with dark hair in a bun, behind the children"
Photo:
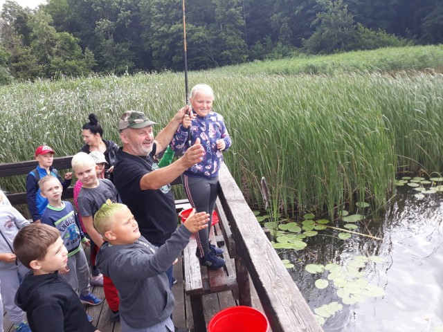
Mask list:
[[[112,170],[114,169],[114,164],[116,163],[116,155],[118,151],[118,145],[111,140],[104,140],[103,128],[98,123],[98,118],[96,114],[89,114],[89,122],[83,124],[82,127],[83,140],[86,143],[80,151],[89,154],[92,151],[100,151],[105,155],[107,165],[105,166],[105,178],[114,182],[114,176]]]

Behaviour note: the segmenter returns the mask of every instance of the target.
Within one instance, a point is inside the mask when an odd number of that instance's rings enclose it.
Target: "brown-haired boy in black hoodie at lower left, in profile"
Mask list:
[[[59,275],[68,250],[57,229],[44,224],[22,228],[14,252],[32,269],[21,283],[15,303],[26,311],[33,332],[100,332],[89,321],[78,295]]]

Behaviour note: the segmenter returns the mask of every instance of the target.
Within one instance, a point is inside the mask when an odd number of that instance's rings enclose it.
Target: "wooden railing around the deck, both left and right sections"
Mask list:
[[[72,156],[54,158],[57,170],[70,169]],[[0,164],[0,178],[27,174],[36,167],[33,161]],[[172,184],[180,183],[179,178]],[[229,230],[224,231],[226,243],[235,242],[237,268],[247,269],[264,313],[273,332],[323,331],[302,297],[280,257],[272,248],[242,192],[224,165],[219,173],[219,200],[216,208],[224,214]],[[26,203],[26,193],[8,193],[12,205]],[[64,198],[72,198],[72,187]],[[239,288],[248,287],[248,279],[238,280]],[[247,293],[247,292],[246,292]],[[248,304],[248,299],[239,299]]]

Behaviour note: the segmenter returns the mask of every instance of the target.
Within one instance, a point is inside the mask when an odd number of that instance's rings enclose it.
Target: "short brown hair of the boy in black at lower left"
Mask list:
[[[60,233],[57,228],[44,223],[31,223],[19,230],[12,246],[21,264],[30,268],[31,261],[44,260],[49,246],[59,237]]]

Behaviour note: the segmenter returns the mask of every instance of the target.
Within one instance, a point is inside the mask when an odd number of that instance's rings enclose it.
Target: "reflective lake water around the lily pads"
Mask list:
[[[384,295],[343,304],[341,311],[327,318],[324,331],[415,332],[443,328],[443,195],[417,199],[416,193],[408,186],[399,187],[381,220],[357,223],[357,232],[368,234],[370,230],[382,241],[358,235],[345,241],[316,236],[309,239],[304,250],[280,254],[296,264],[289,272],[312,309],[334,301],[341,303],[341,299],[332,282],[325,289],[315,288],[315,280],[325,278],[327,273],[312,275],[305,270],[307,264],[343,266],[356,255],[384,259],[362,269],[368,282],[383,288]]]

